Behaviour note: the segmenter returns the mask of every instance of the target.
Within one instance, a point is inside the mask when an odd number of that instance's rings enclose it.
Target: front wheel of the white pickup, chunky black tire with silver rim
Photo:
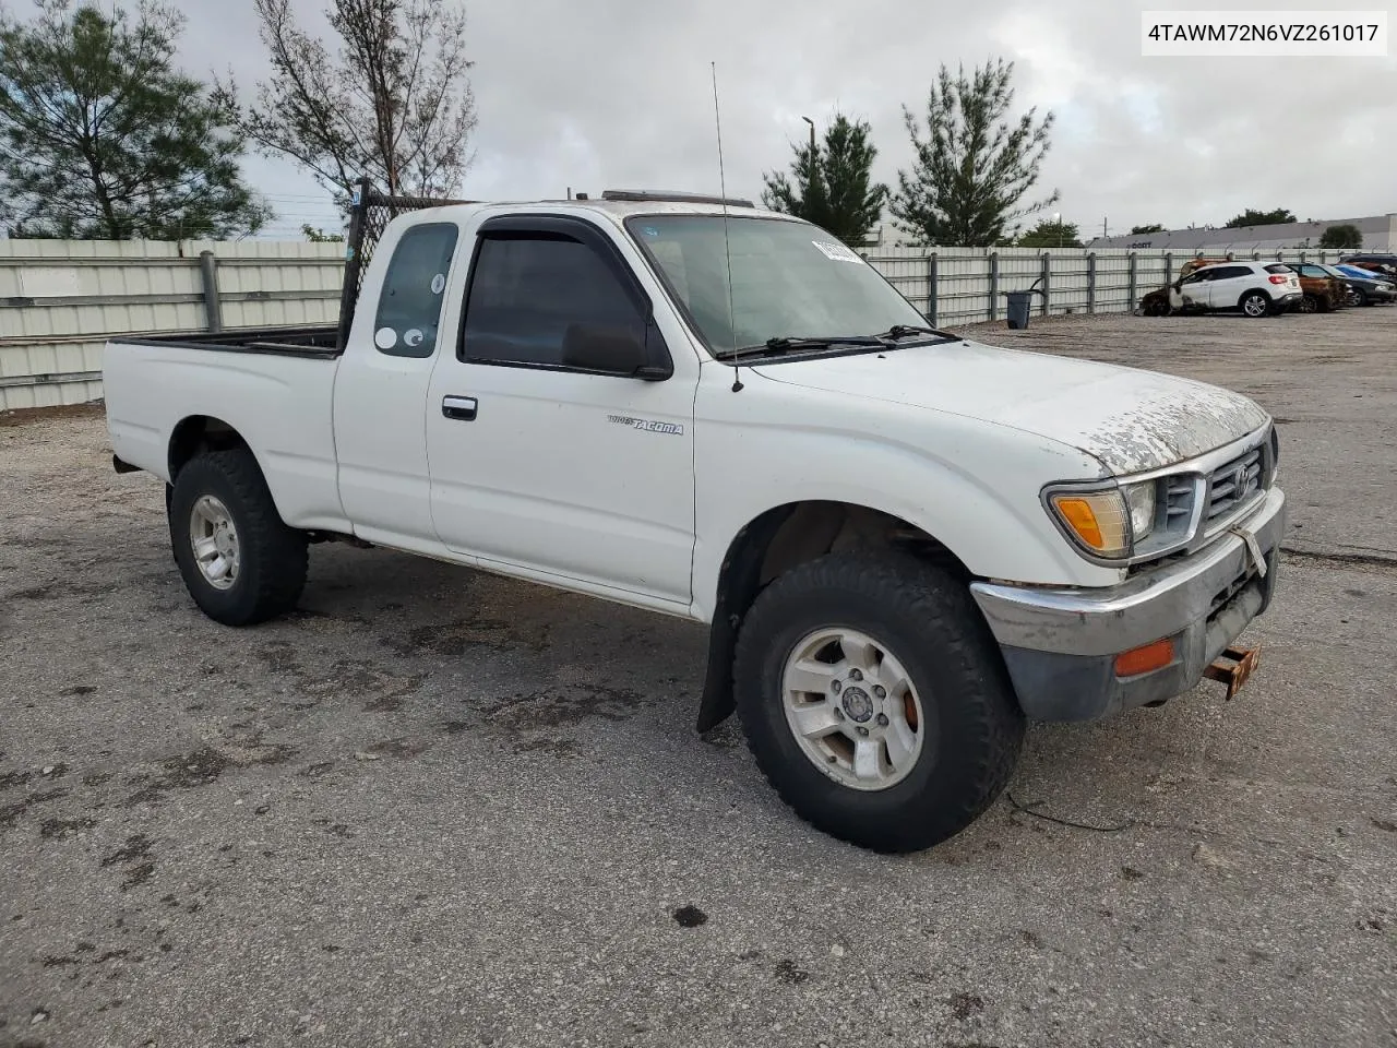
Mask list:
[[[894,555],[827,555],[771,583],[738,637],[747,745],[817,829],[886,852],[960,833],[1009,781],[1024,735],[963,583]]]

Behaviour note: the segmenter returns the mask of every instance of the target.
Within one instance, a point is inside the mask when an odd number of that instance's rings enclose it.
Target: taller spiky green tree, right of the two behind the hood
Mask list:
[[[1058,201],[1058,191],[1021,203],[1038,182],[1053,115],[1037,109],[1010,119],[1014,64],[1003,60],[964,67],[951,78],[942,66],[926,99],[926,137],[904,105],[915,161],[898,172],[891,211],[923,245],[989,246],[1010,242],[1018,219]]]

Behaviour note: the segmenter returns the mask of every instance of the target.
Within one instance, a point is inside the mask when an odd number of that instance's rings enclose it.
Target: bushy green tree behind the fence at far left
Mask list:
[[[0,11],[0,196],[13,233],[127,240],[256,232],[243,138],[210,89],[173,66],[183,17],[39,0]]]

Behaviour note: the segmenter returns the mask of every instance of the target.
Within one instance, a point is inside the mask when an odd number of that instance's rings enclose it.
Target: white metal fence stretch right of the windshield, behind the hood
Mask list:
[[[1337,261],[1347,252],[1287,250],[1207,254],[1257,261]],[[879,247],[869,264],[937,326],[1004,317],[1010,291],[1037,288],[1034,312],[1129,313],[1140,296],[1172,281],[1192,252],[1085,252],[1080,247]]]

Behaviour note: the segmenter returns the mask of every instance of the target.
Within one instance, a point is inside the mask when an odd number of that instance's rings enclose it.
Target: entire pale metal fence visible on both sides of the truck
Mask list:
[[[420,201],[373,197],[366,217]],[[380,224],[381,225],[381,224]],[[372,250],[363,231],[359,257]],[[345,245],[0,240],[0,409],[102,395],[102,345],[116,335],[334,324]],[[1334,261],[1341,252],[1280,252]],[[1039,316],[1120,313],[1172,279],[1192,253],[1074,247],[876,247],[868,260],[935,324],[1004,317],[1006,293],[1037,282]],[[1210,256],[1211,257],[1211,256]],[[352,284],[349,285],[352,286]]]

